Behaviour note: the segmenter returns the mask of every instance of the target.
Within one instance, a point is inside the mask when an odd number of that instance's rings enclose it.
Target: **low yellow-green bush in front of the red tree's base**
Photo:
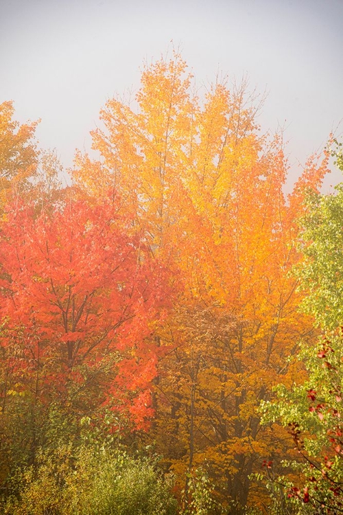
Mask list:
[[[149,459],[123,448],[62,444],[41,451],[16,477],[19,493],[3,506],[11,515],[173,515],[171,481]],[[18,488],[17,488],[18,490]]]

